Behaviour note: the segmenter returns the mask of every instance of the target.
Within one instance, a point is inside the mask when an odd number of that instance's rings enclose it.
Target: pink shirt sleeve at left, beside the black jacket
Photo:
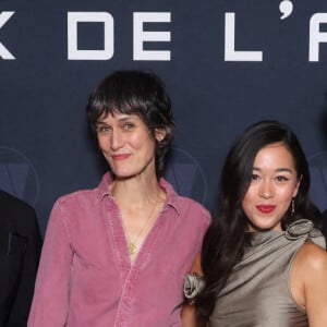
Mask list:
[[[37,272],[28,327],[64,326],[68,315],[72,249],[64,214],[52,208]]]

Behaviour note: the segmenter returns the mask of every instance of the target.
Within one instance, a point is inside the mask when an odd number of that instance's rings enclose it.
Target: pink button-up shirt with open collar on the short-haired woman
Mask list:
[[[174,307],[209,213],[161,179],[167,203],[132,265],[110,182],[55,204],[28,327],[181,326]]]

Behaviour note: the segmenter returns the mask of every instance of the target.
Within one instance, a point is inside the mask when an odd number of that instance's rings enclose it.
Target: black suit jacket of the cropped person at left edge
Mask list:
[[[36,214],[0,191],[0,326],[26,326],[43,245]]]

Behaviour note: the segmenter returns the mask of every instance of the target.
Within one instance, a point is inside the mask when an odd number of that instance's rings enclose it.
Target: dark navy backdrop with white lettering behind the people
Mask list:
[[[298,133],[327,208],[326,0],[0,0],[0,187],[34,205],[43,230],[58,196],[100,179],[85,104],[118,69],[166,82],[178,126],[167,178],[180,193],[214,210],[230,143],[272,118]]]

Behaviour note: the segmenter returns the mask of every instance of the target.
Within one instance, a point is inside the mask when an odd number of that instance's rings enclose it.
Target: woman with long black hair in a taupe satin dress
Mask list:
[[[184,326],[327,326],[327,253],[310,172],[289,126],[262,121],[232,145],[219,209],[193,274]]]

